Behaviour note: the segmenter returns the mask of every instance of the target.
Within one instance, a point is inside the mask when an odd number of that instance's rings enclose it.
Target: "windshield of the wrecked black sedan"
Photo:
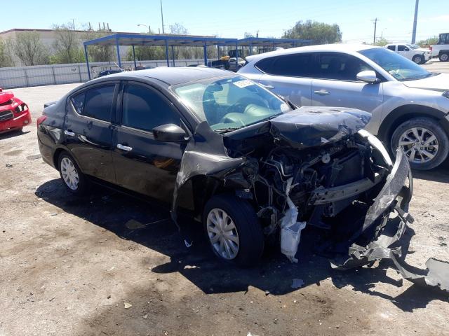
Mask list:
[[[240,76],[200,80],[172,90],[215,132],[230,132],[291,111],[275,94]]]

